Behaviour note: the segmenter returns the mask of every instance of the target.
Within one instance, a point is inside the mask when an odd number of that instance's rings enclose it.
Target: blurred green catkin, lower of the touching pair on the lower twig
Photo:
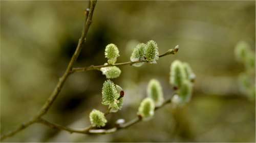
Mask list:
[[[139,106],[138,115],[142,120],[150,120],[154,116],[155,104],[151,98],[145,98]]]

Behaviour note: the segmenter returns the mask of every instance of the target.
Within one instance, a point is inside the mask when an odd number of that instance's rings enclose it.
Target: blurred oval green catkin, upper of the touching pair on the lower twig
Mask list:
[[[156,106],[162,105],[164,98],[163,98],[163,91],[161,84],[156,79],[151,79],[147,85],[147,97],[153,99]]]

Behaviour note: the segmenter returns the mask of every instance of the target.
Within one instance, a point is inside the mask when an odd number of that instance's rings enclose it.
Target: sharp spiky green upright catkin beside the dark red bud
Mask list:
[[[111,80],[106,80],[102,87],[102,104],[110,105],[119,97],[115,84]]]

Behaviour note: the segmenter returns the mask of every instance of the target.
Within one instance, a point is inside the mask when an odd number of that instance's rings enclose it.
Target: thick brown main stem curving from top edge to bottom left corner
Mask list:
[[[25,128],[29,127],[30,125],[36,123],[38,120],[40,120],[40,118],[43,115],[45,115],[47,113],[47,111],[49,110],[49,108],[51,107],[51,105],[53,104],[55,99],[57,98],[58,94],[60,93],[68,76],[70,75],[70,71],[72,70],[74,63],[76,62],[78,55],[80,54],[82,45],[84,44],[84,42],[86,42],[86,37],[87,37],[87,33],[89,31],[90,25],[92,23],[92,17],[93,17],[93,12],[94,12],[95,6],[96,6],[96,1],[92,1],[89,3],[89,9],[86,10],[86,16],[84,19],[85,22],[83,24],[82,34],[78,41],[76,50],[69,62],[69,65],[68,65],[65,73],[59,78],[59,81],[56,84],[56,87],[54,88],[50,97],[47,99],[46,103],[41,107],[39,112],[33,118],[31,118],[28,122],[20,125],[17,129],[15,129],[7,134],[3,134],[0,138],[0,140],[11,137],[11,136],[15,135],[16,133],[18,133],[19,131],[24,130]]]

